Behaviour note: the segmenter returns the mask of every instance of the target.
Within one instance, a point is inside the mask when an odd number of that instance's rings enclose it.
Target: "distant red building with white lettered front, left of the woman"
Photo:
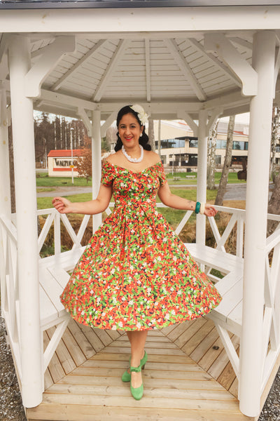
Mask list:
[[[83,149],[73,149],[73,160],[71,149],[54,149],[48,154],[48,175],[50,177],[71,177],[73,163],[73,176],[78,177],[76,159],[83,155]]]

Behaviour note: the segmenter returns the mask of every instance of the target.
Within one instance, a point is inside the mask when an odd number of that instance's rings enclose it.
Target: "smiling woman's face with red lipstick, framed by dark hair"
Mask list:
[[[140,126],[137,118],[133,114],[125,114],[118,125],[120,140],[125,148],[139,145],[139,137],[143,132],[143,126]]]

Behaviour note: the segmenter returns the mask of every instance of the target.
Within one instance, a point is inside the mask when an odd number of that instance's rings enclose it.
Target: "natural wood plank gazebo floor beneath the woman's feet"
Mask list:
[[[53,333],[45,334],[45,345]],[[238,340],[235,340],[238,349]],[[130,342],[122,332],[69,323],[45,374],[43,402],[27,419],[51,421],[239,421],[237,380],[208,319],[149,331],[144,396],[121,375]]]

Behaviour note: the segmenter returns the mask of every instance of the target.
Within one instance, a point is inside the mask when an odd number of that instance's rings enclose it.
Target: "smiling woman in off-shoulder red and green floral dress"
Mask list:
[[[71,203],[53,199],[60,213],[103,212],[113,194],[115,207],[92,236],[62,293],[61,300],[79,323],[126,330],[131,344],[130,381],[141,399],[141,369],[149,329],[195,319],[221,301],[216,288],[197,267],[179,237],[158,213],[155,197],[176,209],[216,215],[214,206],[170,192],[160,157],[145,133],[147,114],[140,105],[120,109],[115,154],[102,161],[97,199]]]

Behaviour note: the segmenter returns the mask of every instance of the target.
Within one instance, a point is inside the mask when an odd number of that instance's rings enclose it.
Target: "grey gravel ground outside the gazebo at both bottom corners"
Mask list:
[[[5,325],[0,317],[0,420],[27,421],[22,407],[15,368],[6,344]],[[175,420],[170,420],[175,421]],[[258,421],[280,421],[280,370]]]

